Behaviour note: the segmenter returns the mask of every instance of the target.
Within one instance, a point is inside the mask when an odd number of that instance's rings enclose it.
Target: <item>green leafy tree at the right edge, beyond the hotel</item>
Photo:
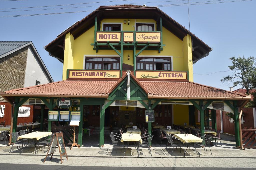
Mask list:
[[[221,81],[224,82],[233,82],[233,86],[236,87],[238,85],[242,86],[242,88],[246,88],[247,94],[249,95],[249,90],[253,88],[254,82],[256,82],[255,74],[256,74],[256,60],[254,57],[250,56],[249,58],[241,57],[240,55],[236,57],[231,57],[232,66],[228,66],[231,71],[233,71],[233,75],[228,75],[223,77]],[[256,83],[255,83],[256,85]]]

